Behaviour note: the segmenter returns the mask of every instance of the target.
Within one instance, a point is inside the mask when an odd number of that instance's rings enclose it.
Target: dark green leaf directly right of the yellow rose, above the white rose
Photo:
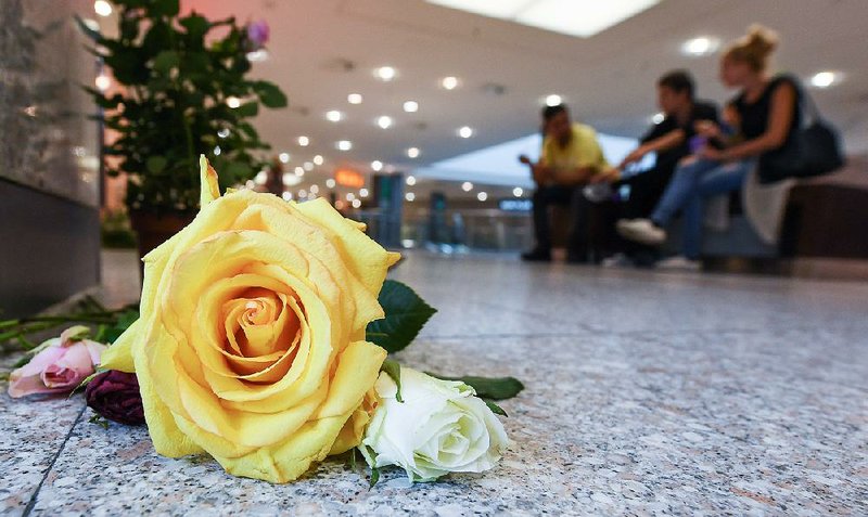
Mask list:
[[[388,353],[407,348],[437,312],[413,289],[394,280],[385,281],[378,299],[386,315],[368,325],[367,339]]]

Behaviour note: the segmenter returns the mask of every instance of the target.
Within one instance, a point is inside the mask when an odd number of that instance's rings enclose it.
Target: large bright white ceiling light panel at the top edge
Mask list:
[[[660,0],[427,0],[429,3],[483,16],[588,38],[620,24]]]

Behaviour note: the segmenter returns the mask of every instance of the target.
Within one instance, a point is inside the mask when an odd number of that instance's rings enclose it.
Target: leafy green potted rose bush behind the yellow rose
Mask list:
[[[199,203],[199,155],[220,171],[221,188],[244,183],[269,148],[251,124],[259,106],[286,106],[273,83],[252,80],[247,53],[268,38],[264,23],[180,15],[179,0],[115,0],[117,36],[81,18],[90,52],[117,85],[86,88],[103,111],[95,118],[116,138],[105,171],[127,175],[126,202],[144,255],[183,228]]]

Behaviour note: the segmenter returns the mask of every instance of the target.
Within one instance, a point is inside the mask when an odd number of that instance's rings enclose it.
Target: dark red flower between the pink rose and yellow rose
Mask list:
[[[130,426],[144,424],[144,408],[136,374],[110,370],[85,388],[88,405],[110,421]]]

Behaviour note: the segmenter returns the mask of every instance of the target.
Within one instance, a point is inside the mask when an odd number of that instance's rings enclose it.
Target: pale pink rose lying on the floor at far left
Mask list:
[[[12,398],[33,393],[69,392],[94,372],[105,345],[78,339],[85,326],[65,329],[61,337],[47,340],[29,363],[10,375],[9,395]]]

